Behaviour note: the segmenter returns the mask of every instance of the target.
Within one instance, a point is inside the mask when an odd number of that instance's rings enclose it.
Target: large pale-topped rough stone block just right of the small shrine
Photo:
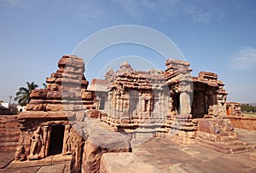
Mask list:
[[[130,138],[119,132],[105,130],[95,119],[86,119],[88,139],[84,145],[82,172],[96,173],[100,170],[103,153],[123,153],[131,151]]]

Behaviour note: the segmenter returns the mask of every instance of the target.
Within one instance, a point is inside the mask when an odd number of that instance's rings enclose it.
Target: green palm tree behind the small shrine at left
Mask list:
[[[26,106],[27,103],[29,103],[29,101],[31,100],[30,98],[30,94],[32,92],[32,89],[36,89],[38,88],[37,84],[34,84],[34,82],[32,82],[31,84],[26,82],[27,87],[20,87],[19,91],[16,92],[16,97],[15,97],[15,101],[18,101],[18,103],[20,104],[20,106]]]

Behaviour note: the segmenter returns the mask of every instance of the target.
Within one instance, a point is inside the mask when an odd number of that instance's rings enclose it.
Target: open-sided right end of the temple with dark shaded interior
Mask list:
[[[200,72],[193,78],[194,98],[192,114],[195,118],[225,117],[228,93],[224,83],[213,72]]]

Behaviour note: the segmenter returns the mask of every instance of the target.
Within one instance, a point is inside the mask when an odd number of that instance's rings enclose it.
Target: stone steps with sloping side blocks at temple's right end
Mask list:
[[[220,153],[233,154],[253,151],[253,142],[241,141],[229,121],[221,119],[201,119],[196,141],[204,147]]]

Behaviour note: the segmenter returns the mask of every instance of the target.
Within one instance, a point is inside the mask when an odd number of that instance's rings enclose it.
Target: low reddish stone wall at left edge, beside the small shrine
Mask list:
[[[0,115],[0,150],[15,150],[20,137],[17,115]]]

